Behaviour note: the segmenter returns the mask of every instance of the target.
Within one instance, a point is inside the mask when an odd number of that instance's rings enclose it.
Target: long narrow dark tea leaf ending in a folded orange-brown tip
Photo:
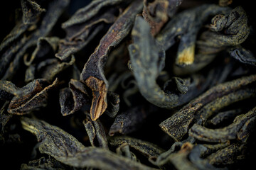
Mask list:
[[[108,84],[103,74],[103,67],[108,53],[128,35],[134,18],[141,9],[142,4],[139,1],[134,1],[127,7],[100,40],[100,45],[92,53],[82,70],[80,80],[92,89],[93,99],[90,111],[92,120],[97,120],[107,108]]]

